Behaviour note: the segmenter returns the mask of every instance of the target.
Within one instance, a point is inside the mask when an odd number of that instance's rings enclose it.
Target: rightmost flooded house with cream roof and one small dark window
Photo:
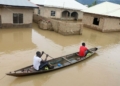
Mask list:
[[[103,2],[83,10],[86,27],[102,32],[120,31],[120,5]]]

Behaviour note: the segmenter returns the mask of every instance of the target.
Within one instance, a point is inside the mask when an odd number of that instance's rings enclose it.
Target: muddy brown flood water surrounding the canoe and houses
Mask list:
[[[58,57],[78,51],[82,42],[88,48],[101,48],[91,58],[57,71],[26,77],[5,75],[31,65],[38,50]],[[0,29],[0,86],[120,86],[119,66],[120,32],[84,28],[82,35],[63,36],[40,30],[35,23],[33,28]]]

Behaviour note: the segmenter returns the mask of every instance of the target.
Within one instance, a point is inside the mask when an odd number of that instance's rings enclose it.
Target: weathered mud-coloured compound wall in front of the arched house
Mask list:
[[[55,19],[44,18],[38,15],[34,15],[34,22],[36,22],[40,29],[54,30],[62,35],[78,35],[82,34],[83,24],[65,22]]]

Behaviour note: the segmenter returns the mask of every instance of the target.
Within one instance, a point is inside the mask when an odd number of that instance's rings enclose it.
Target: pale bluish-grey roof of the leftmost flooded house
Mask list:
[[[37,7],[37,5],[28,0],[0,0],[0,5]]]

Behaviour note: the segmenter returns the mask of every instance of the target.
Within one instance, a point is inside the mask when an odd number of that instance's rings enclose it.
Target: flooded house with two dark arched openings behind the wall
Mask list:
[[[46,18],[81,20],[85,5],[76,0],[31,0],[39,6],[34,13]]]

